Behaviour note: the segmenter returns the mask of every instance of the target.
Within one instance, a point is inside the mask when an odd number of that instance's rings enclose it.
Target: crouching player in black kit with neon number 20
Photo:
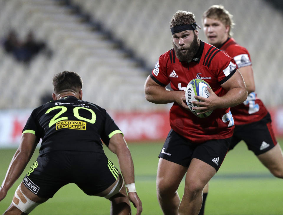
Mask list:
[[[81,100],[82,85],[75,72],[55,75],[54,101],[32,111],[1,185],[0,201],[24,171],[41,138],[40,154],[4,214],[28,214],[68,183],[75,183],[87,195],[109,199],[111,214],[131,214],[129,200],[136,214],[141,214],[134,164],[123,133],[106,110]],[[117,155],[124,180],[104,154],[101,140]]]

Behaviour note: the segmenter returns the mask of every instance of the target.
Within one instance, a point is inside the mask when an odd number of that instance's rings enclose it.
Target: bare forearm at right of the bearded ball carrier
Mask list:
[[[219,97],[219,108],[234,107],[247,99],[248,93],[245,87],[230,89],[224,96]]]

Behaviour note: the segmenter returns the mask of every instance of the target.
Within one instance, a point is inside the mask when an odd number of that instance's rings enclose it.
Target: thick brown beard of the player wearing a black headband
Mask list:
[[[192,61],[192,58],[195,56],[195,54],[197,53],[198,48],[199,48],[197,35],[194,35],[194,39],[193,39],[190,47],[186,48],[187,49],[186,53],[182,53],[181,49],[178,48],[174,44],[173,41],[172,41],[172,45],[173,45],[173,48],[175,50],[176,56],[179,59],[179,61],[186,61],[186,62]]]

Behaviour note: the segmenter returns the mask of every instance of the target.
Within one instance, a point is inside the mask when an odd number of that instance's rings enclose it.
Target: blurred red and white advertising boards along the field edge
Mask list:
[[[268,109],[275,136],[283,138],[283,106]],[[18,147],[32,110],[0,111],[0,148]],[[168,111],[110,112],[127,142],[163,141],[170,130]]]

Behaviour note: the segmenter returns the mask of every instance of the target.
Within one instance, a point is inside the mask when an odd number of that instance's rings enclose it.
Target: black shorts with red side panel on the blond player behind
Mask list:
[[[257,122],[235,126],[229,150],[233,149],[241,140],[245,141],[248,149],[255,155],[272,149],[277,141],[272,129],[270,114],[267,113]]]

